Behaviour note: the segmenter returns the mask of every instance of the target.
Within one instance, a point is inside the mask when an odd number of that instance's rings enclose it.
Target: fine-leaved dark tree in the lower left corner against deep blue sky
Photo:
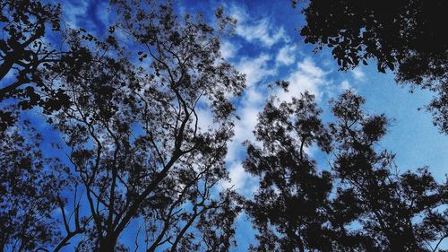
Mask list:
[[[0,142],[0,251],[34,251],[56,243],[60,229],[54,211],[69,174],[56,159],[44,157],[42,138],[25,122]]]

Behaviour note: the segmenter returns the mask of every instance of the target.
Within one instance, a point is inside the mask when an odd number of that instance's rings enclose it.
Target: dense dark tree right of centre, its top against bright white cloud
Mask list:
[[[327,251],[331,248],[325,208],[332,191],[332,176],[317,172],[306,148],[317,143],[331,151],[331,138],[323,126],[314,96],[267,102],[254,131],[263,148],[246,143],[245,169],[260,178],[254,200],[247,206],[259,245],[256,251]]]

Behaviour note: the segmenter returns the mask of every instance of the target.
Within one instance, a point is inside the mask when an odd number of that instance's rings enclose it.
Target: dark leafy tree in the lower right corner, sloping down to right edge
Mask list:
[[[332,169],[341,182],[332,224],[352,236],[340,241],[343,247],[358,241],[361,250],[436,251],[448,235],[446,184],[438,184],[427,168],[400,173],[394,154],[378,144],[387,118],[366,115],[363,103],[351,91],[333,102],[337,121],[330,127],[337,151]]]

